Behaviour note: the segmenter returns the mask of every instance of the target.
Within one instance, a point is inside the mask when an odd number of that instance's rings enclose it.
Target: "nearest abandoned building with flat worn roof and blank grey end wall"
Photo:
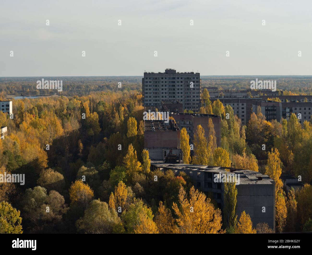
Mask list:
[[[172,170],[176,176],[181,171],[186,173],[191,177],[194,187],[208,197],[212,197],[221,210],[224,207],[224,182],[216,181],[215,176],[235,174],[239,178],[239,183],[236,184],[236,215],[238,218],[245,211],[251,217],[254,228],[258,223],[266,222],[270,228],[275,230],[275,182],[269,176],[250,170],[219,166],[151,162],[151,169],[157,168],[163,171]]]

